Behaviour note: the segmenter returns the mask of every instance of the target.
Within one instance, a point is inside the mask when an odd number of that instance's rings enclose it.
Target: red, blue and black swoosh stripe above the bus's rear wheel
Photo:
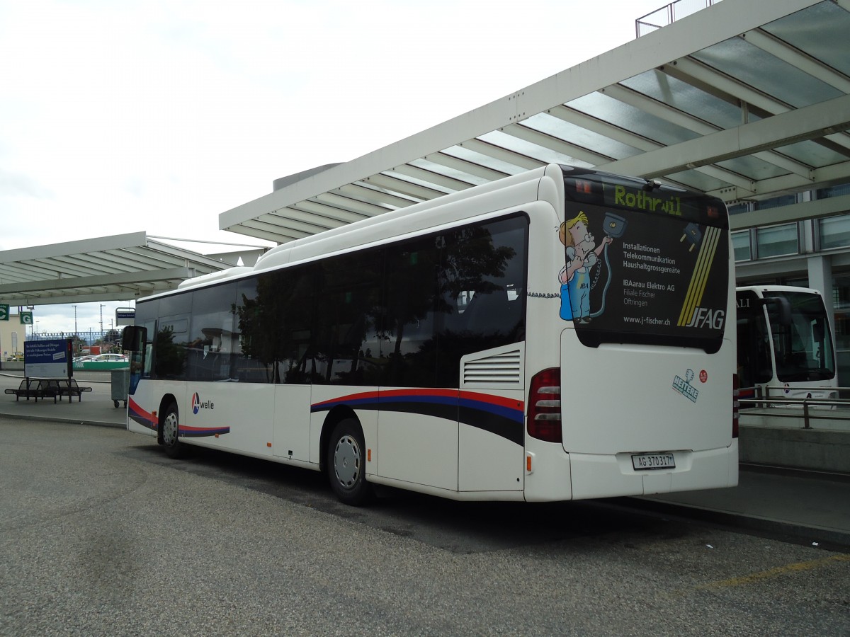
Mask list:
[[[522,401],[479,392],[449,389],[393,389],[360,392],[314,403],[310,411],[330,411],[344,405],[351,409],[423,414],[456,420],[465,425],[524,444],[524,405]]]

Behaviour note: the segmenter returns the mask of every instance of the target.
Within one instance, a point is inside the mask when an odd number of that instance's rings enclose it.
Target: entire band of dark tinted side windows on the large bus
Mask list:
[[[524,338],[527,240],[517,216],[168,297],[157,374],[456,387],[462,356]]]

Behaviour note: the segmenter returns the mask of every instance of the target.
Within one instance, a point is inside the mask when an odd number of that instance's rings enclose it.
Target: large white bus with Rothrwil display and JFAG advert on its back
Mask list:
[[[734,486],[723,202],[550,165],[140,300],[127,427],[458,500]]]

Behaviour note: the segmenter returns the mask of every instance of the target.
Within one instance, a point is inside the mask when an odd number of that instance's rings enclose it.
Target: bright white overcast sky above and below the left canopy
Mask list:
[[[142,230],[256,245],[219,213],[629,42],[664,4],[0,0],[0,251]],[[70,306],[34,318],[74,329]]]

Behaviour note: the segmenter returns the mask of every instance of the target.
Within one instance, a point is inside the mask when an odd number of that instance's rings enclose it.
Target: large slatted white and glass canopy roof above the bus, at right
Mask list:
[[[850,0],[723,0],[354,161],[279,179],[219,228],[286,243],[548,163],[728,203],[850,183],[847,33]],[[836,214],[850,196],[812,204],[733,227]]]

